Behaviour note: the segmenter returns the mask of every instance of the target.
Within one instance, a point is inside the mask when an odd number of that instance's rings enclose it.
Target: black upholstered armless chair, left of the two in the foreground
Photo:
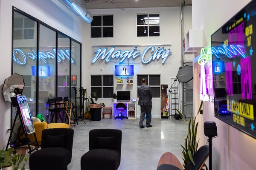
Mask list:
[[[72,158],[73,136],[73,129],[43,130],[41,150],[29,157],[29,169],[67,170]]]

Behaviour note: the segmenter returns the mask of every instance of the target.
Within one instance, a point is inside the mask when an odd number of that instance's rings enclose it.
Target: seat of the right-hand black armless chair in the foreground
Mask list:
[[[113,149],[93,149],[81,157],[81,170],[117,170],[120,154]],[[100,162],[100,163],[99,163]]]

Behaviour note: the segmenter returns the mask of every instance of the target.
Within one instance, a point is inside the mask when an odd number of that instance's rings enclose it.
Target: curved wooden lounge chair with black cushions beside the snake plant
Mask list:
[[[186,170],[201,170],[202,167],[206,167],[204,163],[206,162],[208,156],[209,156],[209,146],[208,145],[201,146],[193,156],[195,166],[192,164],[191,161],[189,161],[189,164]],[[169,160],[166,159],[167,157],[169,157]],[[162,158],[163,160],[161,160]],[[183,167],[180,161],[172,153],[168,153],[168,152],[164,153],[161,159],[159,160],[157,170],[183,170]],[[168,162],[168,161],[172,161],[172,162]],[[206,169],[208,170],[207,167]]]

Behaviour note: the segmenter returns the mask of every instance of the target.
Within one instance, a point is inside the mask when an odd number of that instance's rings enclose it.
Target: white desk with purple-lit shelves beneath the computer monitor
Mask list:
[[[113,102],[112,103],[112,108],[113,108],[112,119],[114,119],[120,113],[120,111],[116,110],[116,104],[117,103],[123,103],[127,107],[126,110],[122,111],[123,116],[127,116],[128,119],[136,119],[136,110],[137,110],[137,108],[136,108],[137,103],[136,102],[134,102],[134,103],[133,102]]]

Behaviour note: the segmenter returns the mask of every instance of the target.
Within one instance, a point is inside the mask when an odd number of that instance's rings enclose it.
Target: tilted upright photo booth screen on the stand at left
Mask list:
[[[26,131],[25,133],[30,134],[35,132],[35,127],[33,124],[33,119],[29,110],[29,105],[26,96],[17,96],[17,100],[20,108],[20,116],[22,119],[21,122]]]

